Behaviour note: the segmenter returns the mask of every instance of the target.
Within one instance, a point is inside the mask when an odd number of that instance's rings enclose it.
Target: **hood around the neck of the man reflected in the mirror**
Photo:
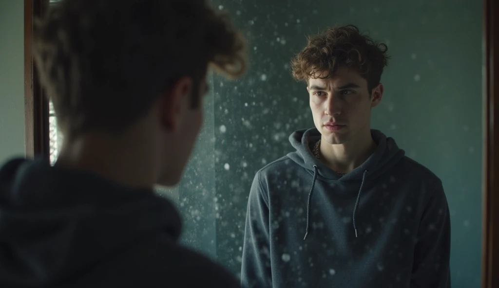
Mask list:
[[[372,153],[362,165],[342,177],[313,156],[311,146],[319,141],[321,137],[316,128],[298,130],[291,134],[291,136],[289,136],[289,142],[296,151],[288,153],[287,156],[311,172],[314,172],[315,165],[317,174],[326,179],[361,181],[364,176],[369,179],[375,179],[393,167],[404,156],[404,150],[397,146],[395,140],[386,137],[378,130],[371,130],[371,136],[377,144],[374,153]],[[366,171],[368,171],[368,173],[367,175],[364,175],[364,172]]]

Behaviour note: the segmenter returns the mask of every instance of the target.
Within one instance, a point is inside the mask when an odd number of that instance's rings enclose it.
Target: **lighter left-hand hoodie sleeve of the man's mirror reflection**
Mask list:
[[[251,184],[246,214],[241,285],[245,288],[272,287],[269,254],[269,209],[258,171]]]

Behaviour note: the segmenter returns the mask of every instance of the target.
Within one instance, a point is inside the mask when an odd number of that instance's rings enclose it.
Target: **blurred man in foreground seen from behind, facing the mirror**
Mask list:
[[[178,244],[176,184],[202,124],[205,76],[245,68],[204,0],[63,0],[35,60],[64,144],[56,164],[0,170],[0,287],[240,287]]]

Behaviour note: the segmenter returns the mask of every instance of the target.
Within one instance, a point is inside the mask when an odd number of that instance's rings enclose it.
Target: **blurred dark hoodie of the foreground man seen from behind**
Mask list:
[[[41,158],[0,167],[1,288],[240,287],[179,245],[181,227],[151,189]]]

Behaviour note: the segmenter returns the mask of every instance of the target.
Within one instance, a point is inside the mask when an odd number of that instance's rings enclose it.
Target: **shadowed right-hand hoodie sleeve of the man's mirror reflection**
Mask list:
[[[450,288],[451,221],[440,180],[430,195],[419,227],[411,288]]]

